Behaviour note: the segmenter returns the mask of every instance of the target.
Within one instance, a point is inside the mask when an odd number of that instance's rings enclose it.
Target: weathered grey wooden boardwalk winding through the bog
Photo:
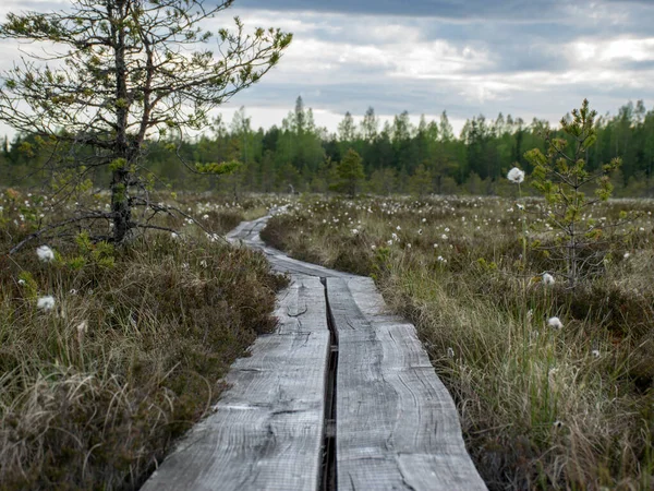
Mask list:
[[[290,273],[279,326],[142,489],[485,490],[414,326],[386,312],[371,278],[266,247],[266,220],[228,238]]]

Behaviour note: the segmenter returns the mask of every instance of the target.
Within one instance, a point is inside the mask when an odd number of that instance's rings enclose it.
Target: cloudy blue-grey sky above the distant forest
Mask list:
[[[68,2],[2,0],[0,17],[55,3]],[[294,34],[279,65],[225,107],[229,120],[245,106],[255,127],[279,124],[299,95],[331,131],[370,106],[386,118],[447,110],[457,130],[500,111],[556,123],[584,97],[601,113],[654,106],[654,0],[237,0],[216,26],[233,15]]]

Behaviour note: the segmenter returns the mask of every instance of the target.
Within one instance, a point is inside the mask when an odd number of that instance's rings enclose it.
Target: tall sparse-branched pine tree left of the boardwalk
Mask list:
[[[245,34],[238,17],[232,31],[205,31],[232,3],[72,0],[68,12],[10,13],[0,26],[1,38],[44,47],[3,74],[0,120],[39,136],[57,168],[110,170],[111,208],[77,217],[111,223],[106,239],[120,243],[155,227],[132,213],[149,206],[141,167],[148,139],[207,127],[211,109],[256,83],[289,46],[290,34]],[[218,173],[233,167],[186,165]]]

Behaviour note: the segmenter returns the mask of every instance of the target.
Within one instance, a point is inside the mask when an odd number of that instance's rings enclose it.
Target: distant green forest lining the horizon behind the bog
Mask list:
[[[567,116],[569,117],[569,116]],[[617,196],[654,196],[654,109],[642,100],[619,108],[615,116],[596,118],[597,140],[589,149],[589,169],[622,158],[614,183]],[[547,121],[499,113],[488,120],[468,120],[457,137],[447,113],[438,121],[423,116],[412,124],[407,111],[380,123],[368,108],[360,124],[348,112],[337,133],[317,128],[313,111],[299,97],[280,127],[252,128],[244,108],[227,124],[220,118],[210,132],[192,140],[171,136],[150,141],[142,165],[152,171],[155,187],[174,190],[242,192],[327,192],[338,179],[337,165],[352,148],[365,173],[362,191],[375,194],[506,194],[506,172],[513,166],[532,170],[523,154],[545,151]],[[562,134],[560,135],[562,137]],[[61,148],[58,149],[61,155]],[[0,185],[40,185],[51,180],[52,149],[35,135],[16,135],[0,152]],[[76,155],[75,158],[80,158]],[[198,176],[189,170],[211,163],[241,163],[228,176]],[[183,165],[183,164],[185,165]],[[87,169],[101,185],[109,176]],[[57,178],[55,176],[55,178]]]

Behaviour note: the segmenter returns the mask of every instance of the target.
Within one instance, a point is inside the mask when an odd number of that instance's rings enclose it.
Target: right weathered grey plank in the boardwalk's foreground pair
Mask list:
[[[339,343],[339,490],[486,489],[413,325],[385,313],[370,279],[327,278],[327,292]]]

